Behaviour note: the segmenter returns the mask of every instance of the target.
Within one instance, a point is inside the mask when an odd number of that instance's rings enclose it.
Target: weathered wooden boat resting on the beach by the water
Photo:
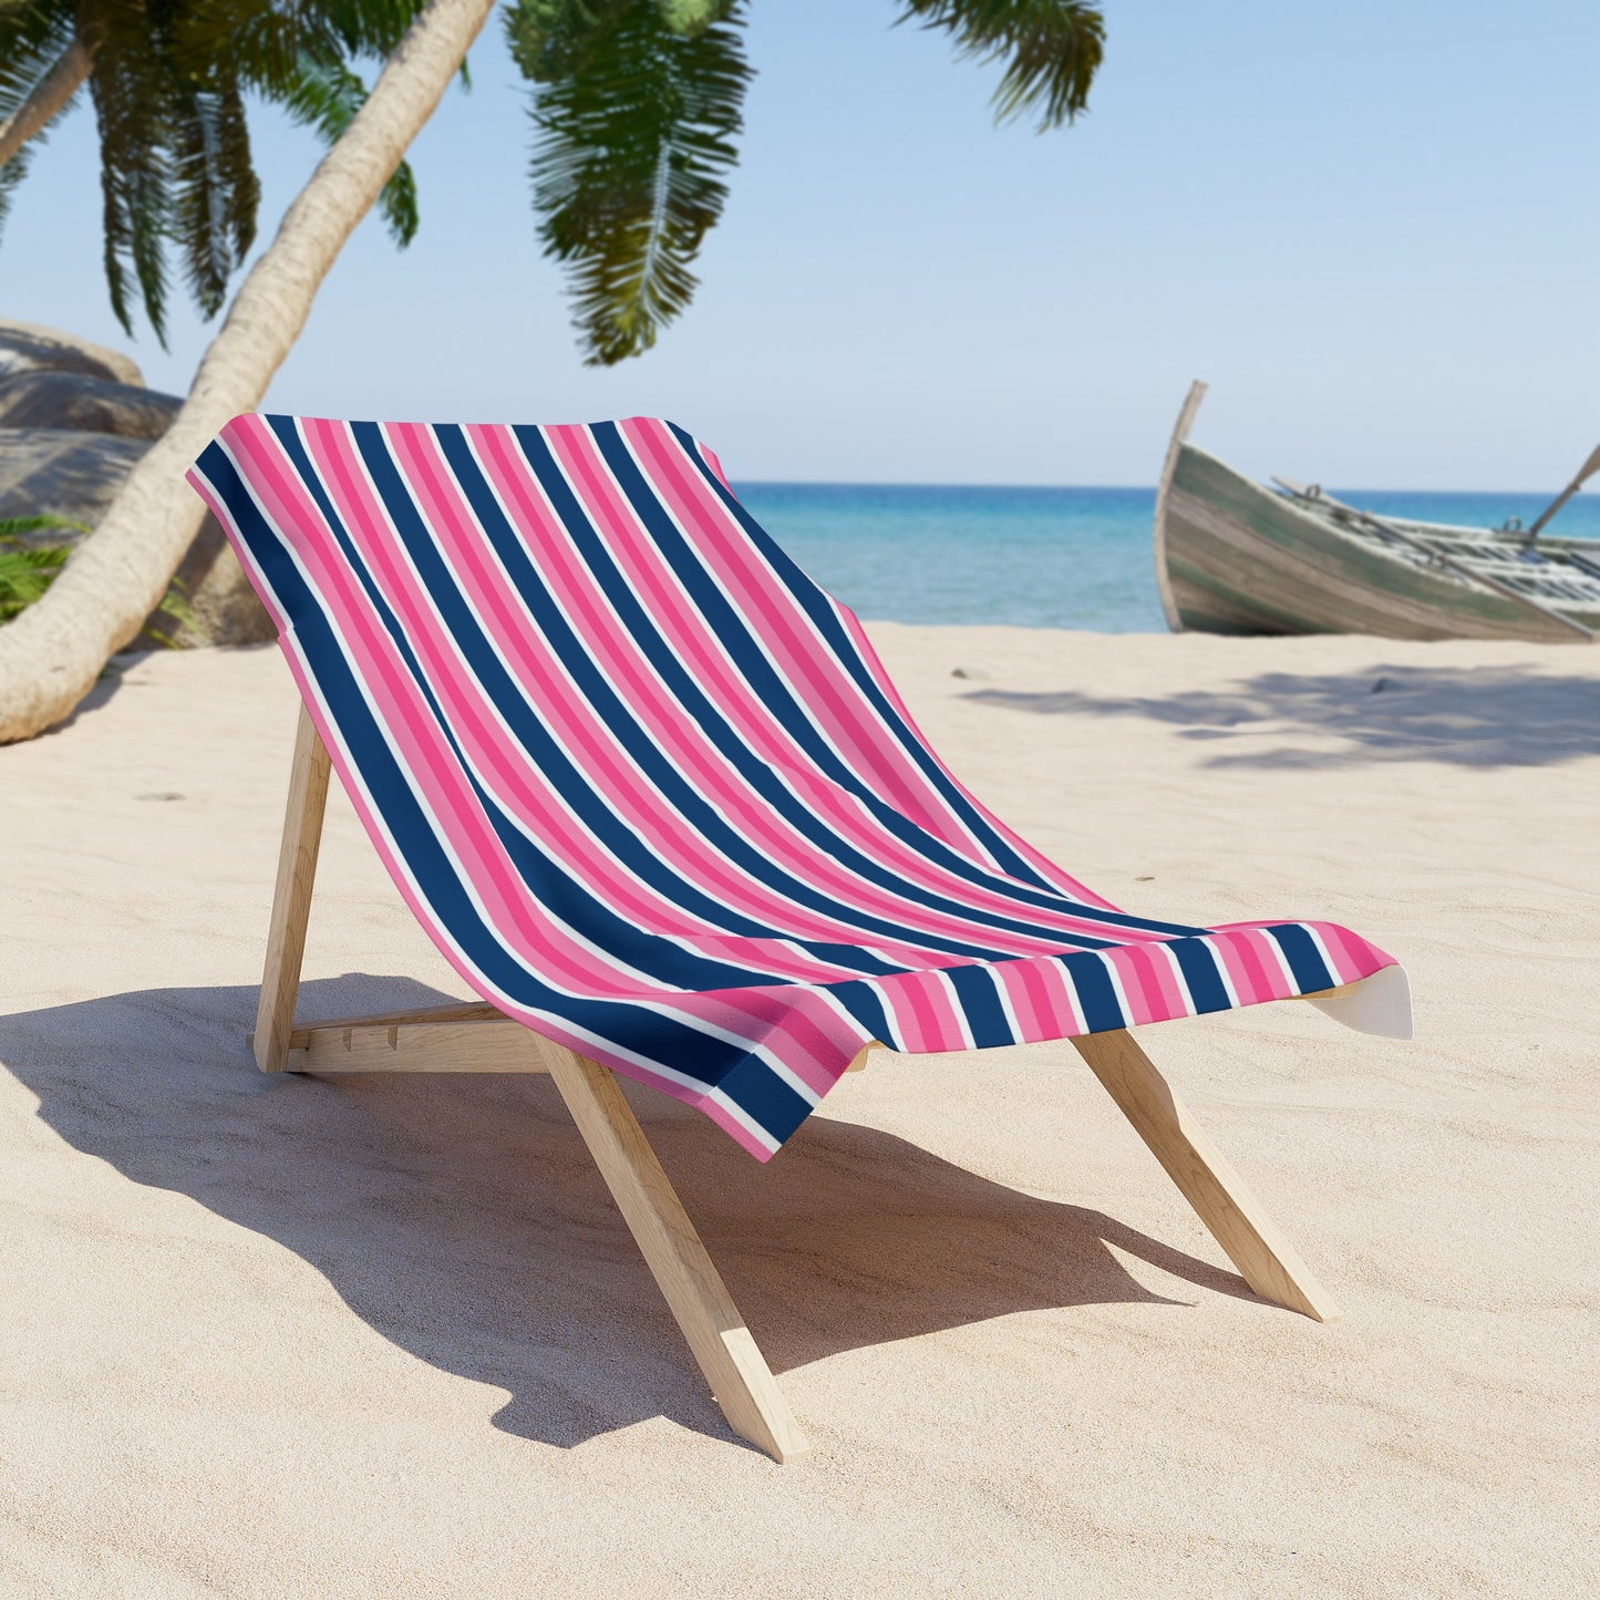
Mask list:
[[[1379,517],[1315,485],[1242,477],[1189,443],[1189,390],[1155,496],[1155,579],[1174,632],[1592,642],[1600,541],[1544,525],[1600,470],[1600,450],[1523,530]]]

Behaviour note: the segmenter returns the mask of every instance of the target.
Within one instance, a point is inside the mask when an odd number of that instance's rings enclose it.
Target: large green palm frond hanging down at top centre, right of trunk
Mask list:
[[[534,211],[568,266],[590,366],[648,350],[698,285],[728,197],[750,80],[742,3],[518,0],[512,54],[534,83]]]

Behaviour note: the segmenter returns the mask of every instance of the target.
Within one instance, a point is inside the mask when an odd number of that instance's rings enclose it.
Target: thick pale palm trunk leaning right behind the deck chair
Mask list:
[[[70,715],[166,592],[203,517],[184,474],[229,418],[259,405],[341,246],[434,114],[493,6],[429,0],[250,269],[171,427],[45,597],[0,627],[0,742],[29,739]]]

